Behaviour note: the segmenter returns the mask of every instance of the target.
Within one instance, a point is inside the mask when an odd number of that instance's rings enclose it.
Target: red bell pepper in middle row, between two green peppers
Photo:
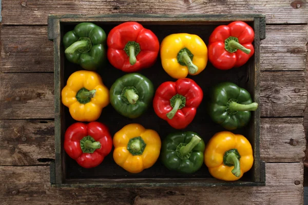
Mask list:
[[[158,87],[153,108],[171,127],[184,129],[194,119],[202,98],[203,91],[194,80],[180,78],[176,82],[166,81]]]

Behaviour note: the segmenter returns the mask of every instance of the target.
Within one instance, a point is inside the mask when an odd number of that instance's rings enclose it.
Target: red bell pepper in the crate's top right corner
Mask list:
[[[209,36],[208,59],[216,68],[228,70],[244,65],[253,56],[255,32],[245,22],[218,26]]]

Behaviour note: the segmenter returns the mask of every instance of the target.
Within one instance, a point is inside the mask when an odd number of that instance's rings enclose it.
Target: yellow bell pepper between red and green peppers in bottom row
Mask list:
[[[139,124],[129,124],[113,136],[113,159],[130,173],[139,173],[157,161],[161,139],[154,130]]]

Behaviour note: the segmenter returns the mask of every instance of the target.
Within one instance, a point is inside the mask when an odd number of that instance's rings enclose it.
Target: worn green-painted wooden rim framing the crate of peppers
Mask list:
[[[64,106],[61,103],[61,90],[64,87],[62,65],[64,51],[61,48],[62,23],[79,22],[126,22],[137,21],[147,24],[217,24],[243,20],[253,22],[255,30],[255,54],[253,63],[249,68],[248,91],[252,94],[254,101],[260,104],[260,40],[265,38],[265,15],[262,14],[197,14],[197,15],[166,15],[166,14],[105,14],[105,15],[83,15],[65,14],[48,16],[48,39],[54,45],[54,134],[55,134],[55,160],[50,165],[50,183],[56,187],[221,187],[221,186],[265,186],[265,163],[260,160],[260,109],[253,113],[250,134],[254,136],[252,146],[254,151],[254,166],[252,181],[221,181],[215,178],[181,178],[181,179],[66,179],[65,160],[63,149],[62,126],[65,118]]]

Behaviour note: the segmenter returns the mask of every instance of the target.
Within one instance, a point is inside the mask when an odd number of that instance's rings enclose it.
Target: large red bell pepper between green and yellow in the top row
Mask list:
[[[125,22],[111,29],[107,46],[110,64],[124,72],[151,67],[159,52],[157,36],[137,22]]]

